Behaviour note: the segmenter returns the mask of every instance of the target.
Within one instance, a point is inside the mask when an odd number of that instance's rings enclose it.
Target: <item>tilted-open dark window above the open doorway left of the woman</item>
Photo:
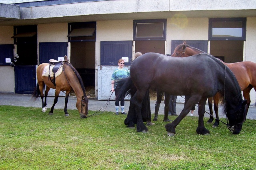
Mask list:
[[[96,22],[68,23],[68,42],[96,41]]]

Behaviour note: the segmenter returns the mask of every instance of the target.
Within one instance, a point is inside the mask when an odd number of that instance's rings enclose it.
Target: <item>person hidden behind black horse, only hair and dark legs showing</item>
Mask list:
[[[137,57],[140,57],[141,55],[142,55],[142,53],[137,52],[137,53],[134,54],[134,58],[136,59]],[[148,126],[155,125],[155,123],[151,122],[149,90],[147,90],[147,92],[145,94],[142,106],[143,107],[141,108],[141,114],[142,114],[143,122],[146,122],[146,125],[148,125]],[[136,116],[136,113],[135,113],[135,108],[129,107],[128,114],[132,114],[132,121],[133,121],[134,124],[136,124],[137,123],[137,116]]]

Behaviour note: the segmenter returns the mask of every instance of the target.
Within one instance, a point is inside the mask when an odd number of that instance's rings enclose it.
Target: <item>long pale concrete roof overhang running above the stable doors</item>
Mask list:
[[[202,0],[199,0],[202,1]],[[229,18],[256,16],[255,0],[207,0],[208,3],[179,0],[108,0],[20,8],[20,18],[0,20],[4,25],[36,25],[100,20],[142,20],[178,16],[187,18]],[[250,3],[249,3],[250,2]],[[179,15],[181,14],[181,15]]]

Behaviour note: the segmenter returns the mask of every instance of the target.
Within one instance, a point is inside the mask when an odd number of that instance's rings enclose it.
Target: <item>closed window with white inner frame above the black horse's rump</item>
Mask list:
[[[134,20],[133,40],[166,40],[166,19]]]

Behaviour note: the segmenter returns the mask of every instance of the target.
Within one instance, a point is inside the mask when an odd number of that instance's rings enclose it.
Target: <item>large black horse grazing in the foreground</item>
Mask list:
[[[122,92],[134,93],[130,105],[136,110],[138,132],[148,131],[142,121],[141,109],[143,98],[149,88],[173,95],[190,96],[180,115],[172,123],[166,124],[169,136],[176,133],[176,126],[197,103],[199,118],[196,132],[209,134],[203,120],[205,104],[207,98],[217,92],[224,96],[224,113],[233,134],[240,133],[246,120],[246,100],[242,100],[241,89],[234,74],[222,62],[208,54],[176,58],[146,53],[132,62],[130,75],[120,83],[124,83]]]

